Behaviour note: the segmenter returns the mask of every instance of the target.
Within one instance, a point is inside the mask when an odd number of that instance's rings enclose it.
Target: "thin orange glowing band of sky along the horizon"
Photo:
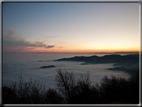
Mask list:
[[[119,49],[83,49],[83,48],[44,48],[44,47],[21,47],[21,50],[3,48],[3,52],[64,52],[64,53],[98,53],[98,52],[139,52],[138,48]]]

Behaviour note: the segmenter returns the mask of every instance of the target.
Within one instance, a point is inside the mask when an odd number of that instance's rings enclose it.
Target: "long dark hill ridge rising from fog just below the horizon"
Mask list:
[[[54,61],[77,61],[86,63],[126,63],[126,62],[139,62],[139,54],[130,55],[105,55],[105,56],[75,56],[71,58],[61,58]]]

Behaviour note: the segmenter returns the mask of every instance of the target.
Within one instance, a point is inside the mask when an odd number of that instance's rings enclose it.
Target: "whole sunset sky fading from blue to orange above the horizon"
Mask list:
[[[3,52],[139,51],[139,3],[3,3]]]

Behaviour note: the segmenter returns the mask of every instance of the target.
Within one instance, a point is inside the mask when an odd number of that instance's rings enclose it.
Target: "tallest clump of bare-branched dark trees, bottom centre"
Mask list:
[[[72,72],[57,70],[57,86],[67,103],[90,103],[92,85],[89,76],[87,73],[77,78]]]

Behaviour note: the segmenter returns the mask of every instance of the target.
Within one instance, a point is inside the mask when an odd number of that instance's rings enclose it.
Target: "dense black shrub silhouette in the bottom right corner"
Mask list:
[[[124,78],[104,77],[98,87],[102,103],[139,103],[139,85]]]

